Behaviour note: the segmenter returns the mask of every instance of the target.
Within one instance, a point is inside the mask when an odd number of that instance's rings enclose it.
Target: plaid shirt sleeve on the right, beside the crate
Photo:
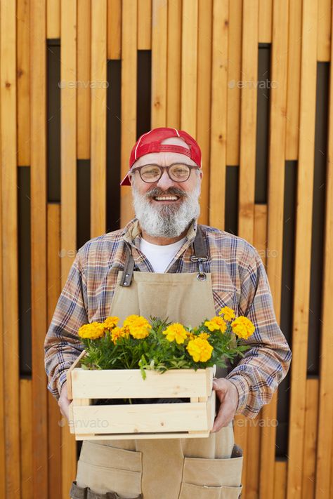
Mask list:
[[[285,378],[292,359],[285,335],[275,317],[273,298],[265,267],[254,246],[248,244],[240,267],[239,315],[252,321],[255,331],[240,345],[250,348],[226,376],[236,386],[239,401],[236,414],[255,418],[268,404]]]

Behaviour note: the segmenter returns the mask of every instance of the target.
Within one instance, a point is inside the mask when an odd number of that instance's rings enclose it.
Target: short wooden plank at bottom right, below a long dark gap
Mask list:
[[[319,380],[306,380],[306,414],[303,450],[302,499],[315,497],[315,461],[317,457]]]

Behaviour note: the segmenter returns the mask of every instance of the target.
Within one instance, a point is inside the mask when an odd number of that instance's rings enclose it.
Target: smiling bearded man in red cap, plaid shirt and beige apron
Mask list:
[[[70,495],[78,498],[238,498],[242,449],[233,418],[254,418],[285,378],[291,351],[275,318],[256,248],[199,225],[202,161],[185,131],[155,128],[133,146],[129,172],[136,218],[79,249],[45,340],[48,389],[68,418],[66,373],[83,350],[83,324],[130,314],[197,326],[228,306],[255,333],[237,365],[220,368],[220,401],[207,438],[84,441]]]

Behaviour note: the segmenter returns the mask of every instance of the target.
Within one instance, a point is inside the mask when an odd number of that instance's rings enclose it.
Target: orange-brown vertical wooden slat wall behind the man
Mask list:
[[[77,468],[77,444],[46,389],[43,342],[77,251],[77,178],[90,168],[91,237],[107,229],[107,179],[123,178],[141,129],[138,77],[151,88],[150,124],[182,128],[202,147],[200,222],[224,229],[230,207],[227,172],[238,180],[237,235],[254,244],[266,266],[275,314],[281,321],[285,166],[296,171],[294,283],[290,317],[287,451],[280,455],[279,392],[254,420],[235,418],[244,450],[247,499],[321,499],[333,496],[333,76],[332,0],[2,0],[0,3],[0,494],[2,498],[63,498]],[[48,41],[61,47],[59,86],[61,187],[48,199]],[[259,51],[270,51],[266,199],[258,200]],[[138,74],[146,51],[151,74]],[[120,63],[119,81],[107,81]],[[327,65],[325,216],[313,220],[317,67]],[[113,67],[113,66],[112,66]],[[151,87],[148,85],[151,84]],[[121,88],[121,161],[107,159],[114,130],[109,96]],[[61,88],[60,88],[61,87]],[[147,90],[148,92],[148,90]],[[147,94],[148,95],[148,94]],[[145,95],[145,98],[147,97]],[[322,151],[322,154],[326,154]],[[78,161],[80,160],[80,161]],[[20,373],[20,206],[18,168],[30,172],[31,375]],[[230,175],[230,178],[233,175]],[[260,177],[259,177],[260,178]],[[51,186],[53,187],[53,186]],[[287,186],[288,187],[288,186]],[[124,227],[133,216],[131,189],[120,190]],[[113,206],[113,205],[112,205]],[[118,213],[118,211],[117,211]],[[311,233],[323,227],[318,375],[308,375]],[[290,242],[290,241],[289,241]],[[24,341],[22,341],[24,339]]]

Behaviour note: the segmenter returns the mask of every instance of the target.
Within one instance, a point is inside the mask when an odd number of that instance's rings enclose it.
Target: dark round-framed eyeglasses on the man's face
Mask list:
[[[163,175],[164,169],[166,169],[166,173],[169,175],[169,178],[174,180],[174,182],[186,182],[186,180],[190,177],[190,173],[193,168],[198,170],[200,167],[197,165],[187,165],[183,163],[173,163],[169,166],[149,164],[138,166],[138,168],[134,168],[131,173],[138,171],[143,182],[152,184],[159,181]]]

